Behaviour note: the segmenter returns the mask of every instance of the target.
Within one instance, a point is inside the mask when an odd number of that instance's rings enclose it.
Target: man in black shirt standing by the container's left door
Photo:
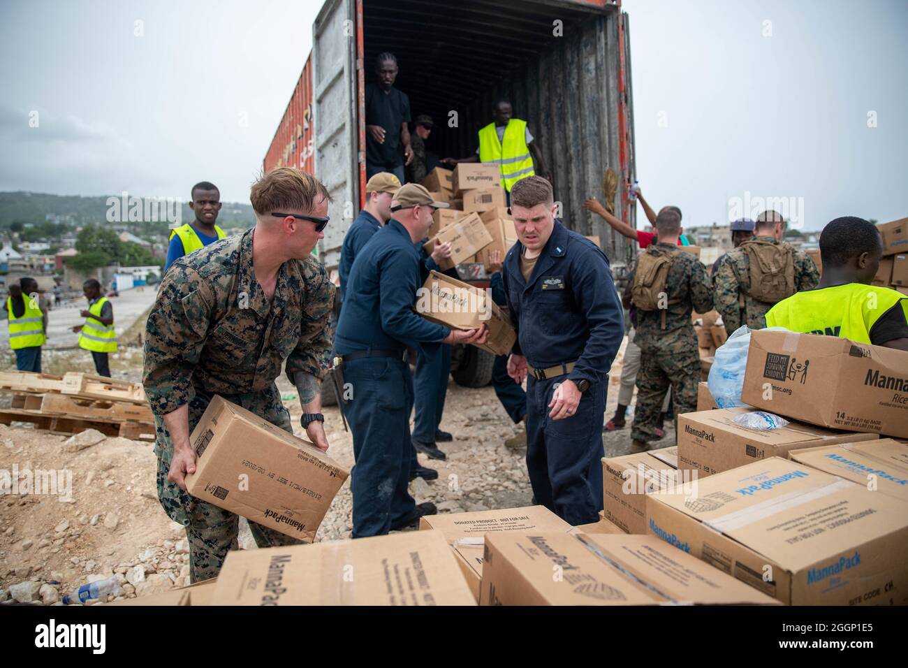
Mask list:
[[[404,183],[404,165],[413,160],[410,148],[410,98],[394,87],[397,58],[379,54],[375,61],[378,84],[366,85],[366,178],[390,172]],[[403,156],[400,147],[403,147]],[[404,162],[406,160],[406,162]]]

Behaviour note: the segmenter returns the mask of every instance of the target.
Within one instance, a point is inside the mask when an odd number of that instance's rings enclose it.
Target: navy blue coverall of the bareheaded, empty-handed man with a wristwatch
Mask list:
[[[527,469],[537,503],[570,524],[597,522],[602,510],[602,424],[608,371],[624,338],[623,310],[606,255],[556,220],[529,281],[523,244],[505,256],[502,279],[518,331],[514,354],[537,369],[576,362],[567,375],[527,380]],[[556,385],[586,379],[577,412],[553,421]]]

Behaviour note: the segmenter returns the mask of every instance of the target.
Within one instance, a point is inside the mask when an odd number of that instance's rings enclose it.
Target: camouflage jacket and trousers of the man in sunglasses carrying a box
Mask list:
[[[252,230],[176,260],[148,316],[143,383],[157,427],[158,498],[186,527],[192,582],[215,577],[237,549],[239,517],[167,481],[173,443],[163,415],[189,404],[189,429],[214,394],[293,431],[274,380],[286,371],[320,380],[331,356],[334,286],[314,258],[281,265],[269,302],[252,270]],[[260,547],[299,541],[250,522]]]

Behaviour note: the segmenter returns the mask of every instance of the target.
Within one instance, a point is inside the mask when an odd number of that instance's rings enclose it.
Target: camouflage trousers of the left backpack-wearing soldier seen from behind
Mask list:
[[[675,433],[678,415],[696,411],[696,385],[700,382],[700,357],[696,339],[690,346],[641,349],[637,373],[637,408],[630,436],[635,441],[657,441],[656,428],[666,392],[671,386],[675,402]]]

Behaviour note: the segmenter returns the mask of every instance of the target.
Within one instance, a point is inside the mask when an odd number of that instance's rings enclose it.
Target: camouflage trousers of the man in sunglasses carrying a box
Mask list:
[[[290,414],[281,404],[281,394],[276,385],[269,390],[249,394],[222,395],[232,404],[241,405],[252,413],[262,416],[288,432],[293,431]],[[195,398],[189,404],[189,429],[198,424],[202,413],[212,396],[196,390]],[[237,536],[240,531],[240,517],[212,503],[199,501],[183,492],[176,484],[167,481],[167,472],[173,458],[173,442],[160,417],[155,416],[157,440],[154,454],[158,457],[157,487],[158,499],[164,512],[176,523],[186,527],[189,540],[190,580],[193,583],[217,577],[230,550],[239,548]],[[259,547],[295,545],[301,541],[254,522],[249,523],[252,537]]]

